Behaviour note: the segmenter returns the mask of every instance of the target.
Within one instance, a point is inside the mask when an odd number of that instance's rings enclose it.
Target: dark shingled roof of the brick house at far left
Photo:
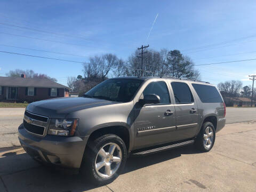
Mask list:
[[[0,86],[66,88],[47,78],[0,77]]]

